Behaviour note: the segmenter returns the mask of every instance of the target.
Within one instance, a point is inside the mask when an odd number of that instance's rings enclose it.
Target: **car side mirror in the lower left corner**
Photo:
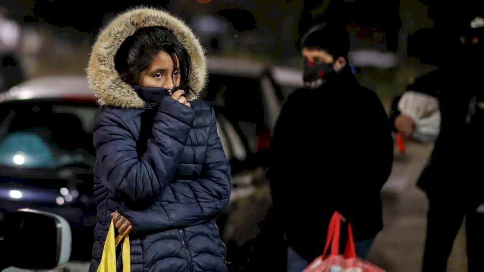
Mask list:
[[[71,227],[57,215],[21,209],[0,221],[0,270],[52,269],[69,261],[71,247]]]

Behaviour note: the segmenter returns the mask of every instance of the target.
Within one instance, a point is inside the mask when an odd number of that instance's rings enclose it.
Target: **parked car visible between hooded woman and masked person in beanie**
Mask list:
[[[232,147],[228,154],[232,172],[267,167],[265,158],[282,103],[302,87],[302,71],[215,57],[209,58],[208,69],[205,101],[230,130],[225,132],[235,130],[241,139],[237,145],[244,146]]]

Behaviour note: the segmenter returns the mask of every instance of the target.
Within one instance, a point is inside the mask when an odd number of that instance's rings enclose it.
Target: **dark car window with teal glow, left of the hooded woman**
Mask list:
[[[0,167],[92,167],[95,103],[14,102],[0,109]]]

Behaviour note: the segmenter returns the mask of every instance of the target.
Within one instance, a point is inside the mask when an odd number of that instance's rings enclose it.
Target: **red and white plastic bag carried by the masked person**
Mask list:
[[[385,272],[383,268],[356,257],[351,224],[348,224],[348,239],[344,254],[339,255],[340,232],[341,215],[335,212],[329,223],[323,255],[314,259],[303,272]],[[327,256],[330,243],[331,252]]]

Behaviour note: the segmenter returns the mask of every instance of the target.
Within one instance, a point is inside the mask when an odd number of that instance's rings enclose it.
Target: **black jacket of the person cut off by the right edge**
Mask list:
[[[449,67],[422,76],[407,87],[439,99],[441,130],[417,185],[428,194],[444,196],[448,201],[482,200],[478,194],[484,184],[479,181],[478,171],[483,162],[484,112],[476,102],[484,97],[481,87],[472,82],[477,80]],[[394,101],[395,107],[397,103],[398,98]],[[398,114],[398,110],[391,114],[392,123]]]

